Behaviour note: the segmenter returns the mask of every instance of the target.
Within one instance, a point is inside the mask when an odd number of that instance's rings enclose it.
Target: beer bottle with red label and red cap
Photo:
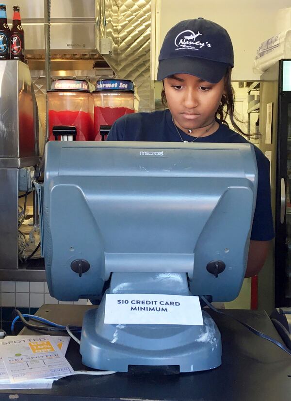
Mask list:
[[[10,51],[12,60],[24,61],[24,31],[21,26],[19,6],[13,7],[12,28],[10,31]]]

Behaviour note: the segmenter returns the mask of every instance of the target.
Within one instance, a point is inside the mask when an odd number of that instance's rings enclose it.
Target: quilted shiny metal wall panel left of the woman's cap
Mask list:
[[[100,37],[113,39],[112,55],[104,55],[119,78],[133,80],[139,111],[153,109],[150,96],[151,0],[101,0],[97,7]]]

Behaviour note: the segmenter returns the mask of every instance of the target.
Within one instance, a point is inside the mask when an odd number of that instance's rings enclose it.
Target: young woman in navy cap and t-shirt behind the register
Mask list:
[[[233,48],[220,25],[203,18],[181,21],[166,35],[159,56],[158,80],[168,109],[128,114],[111,128],[108,141],[248,143],[234,121],[230,76]],[[274,237],[267,158],[254,146],[258,193],[246,277],[259,273]]]

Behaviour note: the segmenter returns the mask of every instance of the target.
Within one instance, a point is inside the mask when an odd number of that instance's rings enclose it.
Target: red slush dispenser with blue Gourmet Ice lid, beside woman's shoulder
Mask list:
[[[94,97],[95,141],[104,141],[112,124],[134,113],[134,86],[130,80],[98,80]]]

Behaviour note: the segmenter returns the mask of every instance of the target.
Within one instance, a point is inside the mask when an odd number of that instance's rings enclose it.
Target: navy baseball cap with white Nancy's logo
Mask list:
[[[183,73],[217,83],[228,67],[233,67],[233,48],[226,30],[208,19],[187,19],[166,34],[157,79]]]

